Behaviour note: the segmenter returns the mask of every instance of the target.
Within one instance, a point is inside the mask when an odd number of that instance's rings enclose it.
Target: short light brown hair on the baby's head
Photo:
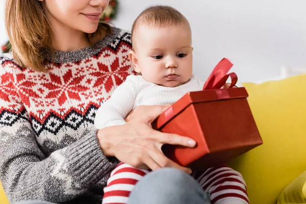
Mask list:
[[[190,29],[190,24],[186,17],[173,7],[163,5],[150,6],[142,11],[133,23],[132,46],[135,45],[134,38],[140,24],[153,25],[158,28],[164,28],[168,25],[185,24]]]

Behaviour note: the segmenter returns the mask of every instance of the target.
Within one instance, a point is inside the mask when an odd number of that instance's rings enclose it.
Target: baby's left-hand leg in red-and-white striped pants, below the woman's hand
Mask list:
[[[104,188],[103,204],[127,203],[135,184],[149,171],[120,163],[111,172]]]

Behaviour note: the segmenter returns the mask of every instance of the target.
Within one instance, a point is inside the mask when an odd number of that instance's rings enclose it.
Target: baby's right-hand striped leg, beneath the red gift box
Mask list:
[[[212,204],[248,204],[242,175],[226,165],[196,172],[194,178],[206,191]]]

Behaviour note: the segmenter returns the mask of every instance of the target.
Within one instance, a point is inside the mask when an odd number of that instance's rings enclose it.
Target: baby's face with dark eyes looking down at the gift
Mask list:
[[[192,74],[191,31],[187,25],[157,28],[139,25],[135,35],[135,70],[158,85],[175,87]]]

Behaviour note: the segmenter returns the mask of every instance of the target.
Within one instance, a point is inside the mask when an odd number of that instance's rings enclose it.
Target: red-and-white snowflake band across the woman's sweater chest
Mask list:
[[[131,44],[117,41],[113,46],[78,62],[50,62],[48,73],[20,69],[14,62],[5,61],[0,98],[8,103],[15,99],[40,123],[50,113],[60,118],[72,110],[85,114],[90,106],[99,107],[107,100],[127,75],[136,73],[128,57]]]

